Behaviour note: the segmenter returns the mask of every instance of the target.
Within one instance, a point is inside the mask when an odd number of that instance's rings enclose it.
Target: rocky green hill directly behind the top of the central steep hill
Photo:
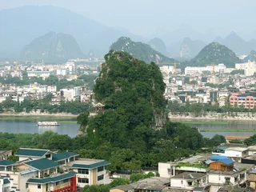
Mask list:
[[[134,58],[138,58],[146,63],[155,62],[157,64],[163,62],[174,62],[173,58],[168,58],[165,55],[154,50],[151,46],[142,42],[133,42],[130,38],[118,38],[110,46],[110,50],[122,50],[132,54]]]

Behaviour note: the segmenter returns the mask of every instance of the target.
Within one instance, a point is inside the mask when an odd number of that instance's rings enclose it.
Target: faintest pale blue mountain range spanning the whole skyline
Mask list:
[[[211,29],[199,33],[186,25],[173,31],[159,29],[149,41],[150,38],[134,35],[120,27],[104,26],[81,14],[55,6],[22,6],[1,10],[0,29],[0,58],[18,58],[24,46],[50,31],[70,34],[83,53],[94,53],[94,57],[106,54],[111,44],[120,37],[148,42],[154,50],[171,58],[180,57],[181,53],[182,58],[193,58],[206,42],[213,39],[234,50],[235,54],[247,55],[250,50],[256,49],[255,39],[245,41],[238,34],[230,34],[230,30]]]

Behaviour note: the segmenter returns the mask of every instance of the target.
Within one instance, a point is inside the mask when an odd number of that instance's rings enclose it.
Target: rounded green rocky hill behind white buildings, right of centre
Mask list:
[[[215,63],[215,65],[224,63],[227,67],[234,67],[234,64],[238,62],[241,61],[232,50],[218,42],[211,42],[195,58],[192,58],[189,62],[182,62],[182,67],[206,66],[212,63]]]

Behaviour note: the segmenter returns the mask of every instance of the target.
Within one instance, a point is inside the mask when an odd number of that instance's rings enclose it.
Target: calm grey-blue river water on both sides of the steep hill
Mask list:
[[[3,120],[0,118],[0,132],[8,133],[30,133],[42,134],[46,130],[52,130],[58,134],[67,134],[74,138],[78,134],[79,125],[74,123],[60,122],[60,126],[38,126],[38,121],[25,120]],[[175,121],[174,121],[175,122]],[[201,134],[206,138],[212,138],[215,134],[226,135],[244,135],[251,136],[256,134],[256,121],[193,121],[182,120],[190,126],[197,127]],[[222,131],[219,131],[222,130]],[[226,131],[225,131],[226,130]]]

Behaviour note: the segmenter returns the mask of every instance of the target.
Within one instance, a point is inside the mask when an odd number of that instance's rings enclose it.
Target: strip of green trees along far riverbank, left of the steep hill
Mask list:
[[[85,110],[89,110],[89,104],[83,102],[60,102],[59,105],[52,105],[50,103],[52,94],[48,94],[46,98],[39,100],[25,99],[23,102],[14,102],[11,99],[0,103],[0,111],[2,110],[14,110],[16,113],[26,112],[30,113],[32,110],[40,110],[41,113],[48,112],[50,114],[56,113],[71,113],[81,114]]]

